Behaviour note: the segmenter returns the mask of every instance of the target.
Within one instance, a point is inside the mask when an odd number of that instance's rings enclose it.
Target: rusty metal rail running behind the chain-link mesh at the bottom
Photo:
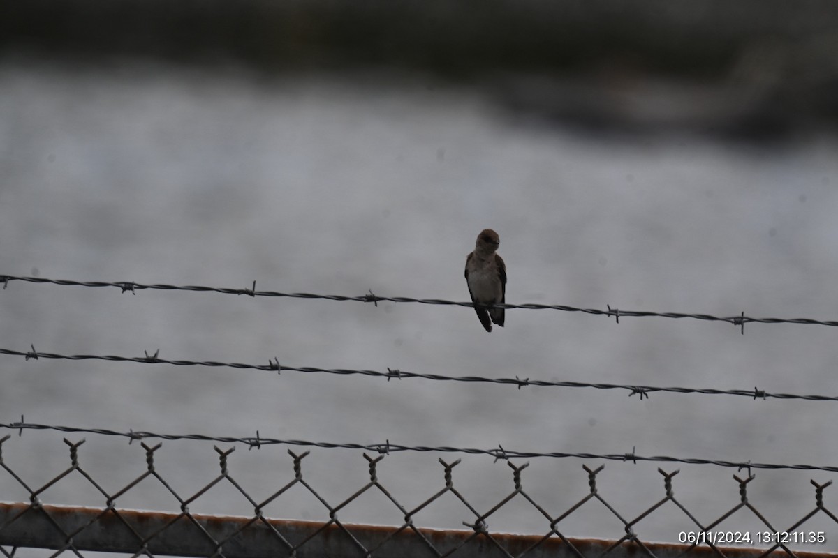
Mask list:
[[[509,535],[475,530],[432,530],[381,525],[336,525],[312,521],[270,520],[202,514],[172,514],[116,508],[80,508],[0,504],[0,545],[54,550],[99,550],[146,555],[227,558],[333,558],[365,556],[419,558],[458,555],[526,555],[530,558],[644,555],[634,541],[566,539],[557,536]],[[223,541],[215,543],[214,541]],[[294,541],[297,541],[295,544]],[[299,544],[302,542],[303,544]],[[710,547],[644,543],[657,558],[719,555]],[[610,549],[610,550],[609,550]],[[764,550],[718,547],[728,558],[758,558]],[[768,556],[787,556],[778,550]],[[835,554],[795,552],[798,558],[834,558]]]

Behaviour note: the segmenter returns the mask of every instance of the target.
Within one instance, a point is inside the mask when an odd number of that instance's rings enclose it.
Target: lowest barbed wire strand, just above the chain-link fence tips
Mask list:
[[[632,448],[631,453],[566,453],[566,452],[535,452],[535,451],[517,451],[512,449],[505,449],[498,445],[497,448],[481,449],[481,448],[456,448],[451,446],[406,446],[399,443],[391,443],[388,439],[385,443],[331,443],[331,442],[311,442],[308,440],[285,440],[278,438],[262,438],[259,431],[256,431],[256,437],[233,437],[233,436],[208,436],[204,434],[164,434],[151,433],[145,431],[119,432],[107,428],[84,428],[84,427],[69,427],[50,424],[36,424],[25,422],[23,416],[20,417],[20,422],[0,423],[0,428],[8,430],[17,430],[18,436],[23,435],[23,430],[51,430],[62,433],[87,433],[99,434],[101,436],[116,436],[121,438],[128,438],[128,443],[134,440],[143,440],[146,438],[156,438],[160,440],[198,440],[203,442],[218,442],[218,443],[241,443],[245,444],[249,449],[260,449],[262,446],[269,445],[287,445],[287,446],[301,446],[310,448],[326,448],[326,449],[361,449],[380,454],[390,454],[398,452],[418,452],[418,453],[466,453],[471,455],[488,455],[497,460],[508,460],[512,458],[579,458],[579,459],[604,459],[608,461],[623,461],[632,462],[636,464],[639,461],[649,462],[664,462],[664,463],[685,463],[690,465],[716,465],[717,467],[737,468],[739,470],[747,469],[750,474],[751,469],[797,469],[807,471],[829,471],[831,473],[838,473],[838,467],[829,465],[807,465],[807,464],[781,464],[781,463],[753,463],[751,461],[724,461],[718,459],[704,459],[704,458],[677,458],[666,455],[643,456],[638,455],[636,447]],[[7,434],[0,438],[0,443],[8,440],[10,436]]]

